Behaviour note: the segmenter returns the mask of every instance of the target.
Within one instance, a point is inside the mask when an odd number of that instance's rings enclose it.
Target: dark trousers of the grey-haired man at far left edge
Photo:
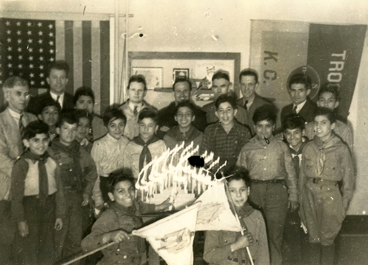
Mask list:
[[[9,264],[15,222],[10,218],[10,201],[0,200],[0,264]]]

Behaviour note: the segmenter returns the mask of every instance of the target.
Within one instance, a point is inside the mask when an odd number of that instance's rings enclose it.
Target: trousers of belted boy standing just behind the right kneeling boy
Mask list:
[[[272,265],[282,263],[282,236],[288,198],[289,193],[283,183],[251,181],[249,200],[264,214]]]

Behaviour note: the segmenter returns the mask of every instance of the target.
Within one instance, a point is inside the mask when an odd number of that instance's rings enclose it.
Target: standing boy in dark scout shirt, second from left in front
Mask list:
[[[82,208],[89,204],[97,179],[91,155],[75,141],[78,119],[74,113],[63,113],[57,124],[49,154],[60,165],[60,176],[66,198],[66,218],[56,232],[57,258],[66,258],[80,251],[82,239]]]

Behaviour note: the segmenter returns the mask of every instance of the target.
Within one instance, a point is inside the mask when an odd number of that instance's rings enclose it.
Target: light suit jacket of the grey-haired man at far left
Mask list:
[[[23,121],[25,125],[37,120],[32,113],[25,112]],[[15,161],[23,152],[19,125],[10,115],[7,108],[0,113],[0,200],[7,200],[9,197],[11,170]]]

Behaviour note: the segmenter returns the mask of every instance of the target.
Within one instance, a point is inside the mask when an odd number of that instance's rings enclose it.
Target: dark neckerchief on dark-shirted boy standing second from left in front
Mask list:
[[[79,164],[80,160],[80,152],[79,152],[79,143],[77,141],[73,141],[69,146],[63,145],[60,143],[60,139],[56,138],[52,141],[52,146],[60,149],[62,152],[66,153],[67,155],[72,157],[73,163],[71,164],[71,170],[77,177],[77,189],[81,190],[83,185],[83,178],[82,178],[82,169],[81,165]]]

